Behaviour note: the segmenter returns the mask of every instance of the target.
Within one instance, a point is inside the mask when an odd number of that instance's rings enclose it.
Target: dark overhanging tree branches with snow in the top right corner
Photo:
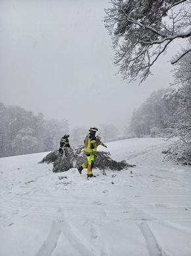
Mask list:
[[[145,81],[173,41],[191,36],[190,0],[111,0],[111,4],[104,21],[115,51],[113,63],[129,82]],[[171,64],[190,51],[186,48]]]

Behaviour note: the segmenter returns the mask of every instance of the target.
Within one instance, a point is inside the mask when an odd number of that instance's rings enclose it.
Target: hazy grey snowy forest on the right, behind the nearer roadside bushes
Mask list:
[[[128,137],[166,137],[171,134],[172,124],[177,123],[178,91],[175,89],[159,89],[132,112],[127,128]]]

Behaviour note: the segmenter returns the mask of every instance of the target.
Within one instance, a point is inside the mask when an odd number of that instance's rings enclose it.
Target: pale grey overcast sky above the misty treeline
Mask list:
[[[126,127],[134,108],[173,81],[174,53],[140,86],[115,75],[103,23],[108,1],[1,0],[0,101],[67,119],[70,128]]]

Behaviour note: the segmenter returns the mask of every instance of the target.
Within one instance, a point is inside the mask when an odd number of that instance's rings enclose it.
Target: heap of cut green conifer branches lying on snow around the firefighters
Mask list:
[[[125,160],[115,161],[111,159],[109,152],[97,151],[97,157],[95,157],[94,168],[105,171],[105,169],[121,171],[128,167],[134,167],[135,165],[129,165]],[[65,150],[65,154],[61,156],[58,151],[52,151],[48,153],[39,163],[53,163],[53,172],[61,173],[68,171],[70,168],[79,167],[86,161],[86,155],[79,149]]]

